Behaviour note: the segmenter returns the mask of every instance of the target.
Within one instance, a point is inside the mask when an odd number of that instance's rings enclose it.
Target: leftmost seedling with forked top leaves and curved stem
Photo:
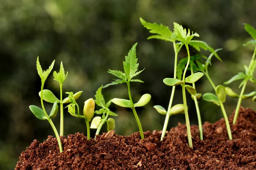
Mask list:
[[[40,92],[40,96],[43,96],[43,90],[44,90],[44,83],[47,79],[47,77],[49,76],[50,72],[52,71],[53,65],[54,65],[55,60],[52,62],[52,64],[49,66],[49,68],[46,71],[43,71],[40,62],[39,62],[39,57],[37,58],[37,62],[36,62],[36,68],[38,71],[38,74],[41,78],[41,92]],[[48,99],[53,102],[53,106],[52,106],[52,110],[50,112],[50,114],[48,115],[45,108],[44,108],[44,102],[43,102],[43,97],[41,97],[41,106],[42,109],[39,108],[38,106],[35,105],[30,105],[29,109],[32,111],[32,113],[40,120],[48,120],[48,122],[50,123],[50,125],[52,126],[52,129],[55,133],[55,136],[57,138],[58,141],[58,145],[59,145],[59,149],[60,149],[60,153],[62,152],[62,145],[61,145],[61,139],[60,136],[58,135],[58,131],[55,127],[55,125],[52,122],[52,118],[54,118],[57,113],[58,113],[58,105],[57,103],[60,102],[56,97],[52,98],[51,95],[46,95],[48,97]]]

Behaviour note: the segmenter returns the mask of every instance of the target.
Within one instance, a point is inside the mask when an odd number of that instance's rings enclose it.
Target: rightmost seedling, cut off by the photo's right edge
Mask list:
[[[244,24],[244,29],[245,29],[245,31],[247,31],[251,35],[251,37],[253,37],[253,40],[244,44],[244,46],[246,46],[248,44],[255,45],[254,52],[253,52],[253,57],[251,58],[251,61],[250,61],[250,64],[249,64],[248,67],[246,65],[244,65],[245,73],[239,72],[234,77],[232,77],[228,81],[224,82],[224,84],[227,85],[227,84],[230,84],[233,81],[242,80],[242,82],[239,85],[239,88],[242,86],[240,95],[236,94],[235,92],[230,92],[230,94],[227,94],[231,97],[235,97],[235,98],[238,97],[239,98],[238,102],[237,102],[237,105],[236,105],[236,112],[235,112],[235,116],[234,116],[234,119],[233,119],[233,124],[236,123],[242,99],[248,99],[248,98],[251,98],[255,95],[255,94],[254,95],[251,95],[251,94],[245,94],[244,95],[244,91],[245,91],[248,80],[250,80],[251,82],[254,82],[256,84],[256,80],[253,77],[253,73],[254,73],[255,67],[256,67],[256,60],[255,60],[255,55],[256,55],[256,30],[252,26],[250,26],[249,24]]]

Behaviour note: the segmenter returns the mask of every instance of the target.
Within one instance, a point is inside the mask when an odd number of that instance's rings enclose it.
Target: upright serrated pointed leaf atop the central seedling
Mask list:
[[[123,61],[124,70],[128,81],[131,80],[132,75],[136,73],[139,66],[139,64],[137,63],[138,59],[136,58],[136,46],[137,43],[132,46],[131,50],[128,53],[128,56],[125,56],[125,61]]]

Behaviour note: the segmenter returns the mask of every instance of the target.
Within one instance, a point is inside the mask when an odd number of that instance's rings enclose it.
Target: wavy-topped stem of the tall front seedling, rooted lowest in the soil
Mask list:
[[[182,97],[183,97],[183,105],[184,105],[185,118],[186,118],[186,127],[187,127],[187,133],[188,133],[189,147],[193,148],[192,137],[191,137],[191,132],[190,132],[190,124],[189,124],[189,113],[188,113],[188,108],[187,108],[187,103],[186,103],[186,90],[185,90],[185,76],[186,76],[186,71],[189,67],[190,55],[189,55],[189,47],[187,44],[185,44],[185,45],[186,45],[186,50],[188,53],[188,62],[185,67],[185,70],[183,72],[183,78],[182,78],[183,83],[181,85],[182,85]]]

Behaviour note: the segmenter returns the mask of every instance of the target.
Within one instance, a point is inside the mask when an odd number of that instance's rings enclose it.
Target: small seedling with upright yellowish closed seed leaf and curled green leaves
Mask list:
[[[80,92],[78,92],[80,93]],[[75,98],[78,95],[74,95],[73,92],[66,92],[66,94],[69,94],[68,98],[69,98],[69,102],[70,104],[67,105],[66,108],[68,108],[68,112],[75,117],[79,117],[85,120],[86,123],[86,127],[87,127],[87,140],[90,140],[90,125],[89,122],[91,121],[91,119],[93,118],[94,115],[94,108],[95,108],[95,102],[92,98],[87,99],[84,102],[84,110],[83,110],[83,115],[80,115],[80,111],[79,111],[79,105],[77,104]],[[77,94],[77,93],[76,93]],[[77,108],[77,114],[76,114],[76,108]]]

